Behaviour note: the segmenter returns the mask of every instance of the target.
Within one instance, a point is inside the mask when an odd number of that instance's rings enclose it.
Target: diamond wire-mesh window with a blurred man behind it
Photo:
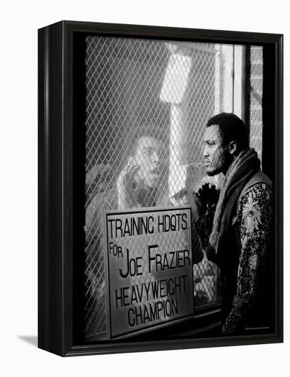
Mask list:
[[[217,53],[205,43],[86,39],[88,339],[106,335],[104,212],[192,204],[205,182],[202,138],[217,110]],[[206,258],[193,263],[195,308],[217,304],[217,267]]]

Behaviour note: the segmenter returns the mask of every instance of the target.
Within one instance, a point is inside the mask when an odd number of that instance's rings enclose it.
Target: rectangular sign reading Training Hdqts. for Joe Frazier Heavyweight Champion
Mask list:
[[[190,208],[105,216],[110,337],[192,316]]]

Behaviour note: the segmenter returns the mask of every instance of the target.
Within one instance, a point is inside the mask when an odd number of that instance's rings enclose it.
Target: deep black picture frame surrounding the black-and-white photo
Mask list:
[[[275,331],[268,335],[203,337],[170,340],[111,340],[85,342],[81,321],[83,241],[77,220],[84,214],[76,206],[83,195],[81,178],[84,139],[74,124],[83,108],[73,94],[81,95],[83,76],[74,53],[87,34],[153,38],[189,42],[262,45],[264,53],[263,148],[275,145],[275,159],[263,156],[272,176],[275,195]],[[38,31],[38,347],[60,356],[142,352],[186,348],[278,343],[283,339],[282,315],[282,35],[226,32],[143,25],[61,21]],[[79,48],[77,55],[83,51]],[[74,87],[75,86],[75,87]],[[75,91],[74,91],[75,90]],[[79,253],[78,253],[79,252]],[[76,304],[77,303],[77,304]]]

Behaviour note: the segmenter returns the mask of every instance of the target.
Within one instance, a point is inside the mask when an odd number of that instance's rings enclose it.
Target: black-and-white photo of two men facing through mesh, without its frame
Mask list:
[[[274,332],[263,69],[256,45],[85,38],[85,339]]]

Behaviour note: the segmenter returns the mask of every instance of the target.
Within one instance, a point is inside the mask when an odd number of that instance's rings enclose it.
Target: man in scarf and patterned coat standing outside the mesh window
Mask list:
[[[204,185],[195,194],[196,229],[224,277],[222,332],[265,332],[273,313],[272,183],[235,114],[209,119],[204,142],[207,174],[223,173],[223,179],[216,206],[209,200],[214,186]]]

